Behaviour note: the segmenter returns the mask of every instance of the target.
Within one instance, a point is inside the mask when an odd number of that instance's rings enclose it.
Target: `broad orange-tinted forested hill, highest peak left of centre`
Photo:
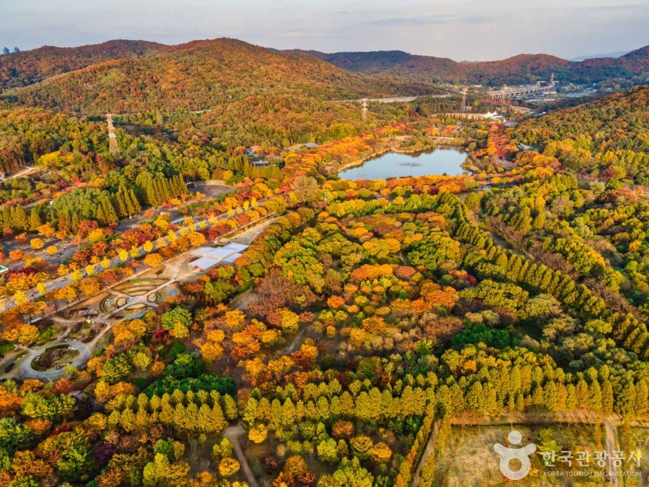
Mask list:
[[[420,82],[350,73],[308,55],[215,39],[170,46],[144,59],[89,66],[12,90],[10,95],[19,104],[30,106],[133,113],[175,108],[202,111],[260,95],[331,100],[430,90]]]

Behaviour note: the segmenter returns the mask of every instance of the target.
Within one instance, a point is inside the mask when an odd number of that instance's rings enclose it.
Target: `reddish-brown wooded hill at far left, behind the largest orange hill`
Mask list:
[[[14,52],[0,56],[0,93],[104,61],[146,57],[162,48],[155,42],[115,40],[78,48],[43,46]]]

